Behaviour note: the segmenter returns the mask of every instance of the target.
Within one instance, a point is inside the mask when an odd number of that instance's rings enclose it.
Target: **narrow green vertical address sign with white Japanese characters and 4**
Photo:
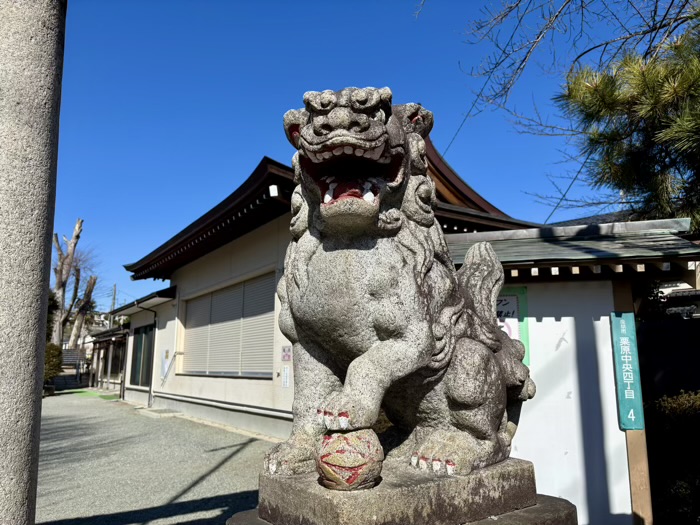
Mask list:
[[[633,313],[610,314],[620,430],[643,430],[644,408]]]

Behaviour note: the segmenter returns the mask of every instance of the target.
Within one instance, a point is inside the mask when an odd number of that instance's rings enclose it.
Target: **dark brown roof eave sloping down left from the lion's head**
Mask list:
[[[131,278],[168,279],[172,272],[289,211],[291,168],[263,157],[231,195],[139,261],[125,264]],[[270,186],[277,186],[272,196]]]

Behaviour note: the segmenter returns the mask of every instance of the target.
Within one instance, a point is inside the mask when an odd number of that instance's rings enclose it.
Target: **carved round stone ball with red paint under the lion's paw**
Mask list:
[[[384,450],[373,430],[324,436],[316,456],[319,482],[333,490],[372,488],[380,481]]]

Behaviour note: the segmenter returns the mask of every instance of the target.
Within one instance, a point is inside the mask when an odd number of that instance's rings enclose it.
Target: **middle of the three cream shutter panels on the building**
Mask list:
[[[243,285],[219,290],[211,297],[209,373],[237,375],[241,368]]]

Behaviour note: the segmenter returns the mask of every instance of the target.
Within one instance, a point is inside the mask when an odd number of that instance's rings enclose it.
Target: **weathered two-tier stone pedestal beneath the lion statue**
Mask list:
[[[328,490],[314,474],[260,476],[257,510],[236,514],[227,525],[576,525],[576,509],[538,497],[532,464],[508,459],[469,476],[434,478],[387,461],[375,488]],[[521,510],[522,509],[522,510]]]

